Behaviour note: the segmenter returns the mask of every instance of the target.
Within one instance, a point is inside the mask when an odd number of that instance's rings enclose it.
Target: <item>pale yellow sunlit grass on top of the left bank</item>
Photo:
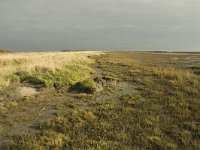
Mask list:
[[[100,52],[27,52],[0,54],[0,87],[8,86],[9,76],[16,72],[35,71],[36,68],[45,68],[49,71],[62,69],[67,65],[87,65],[93,62],[88,56],[98,55]]]

